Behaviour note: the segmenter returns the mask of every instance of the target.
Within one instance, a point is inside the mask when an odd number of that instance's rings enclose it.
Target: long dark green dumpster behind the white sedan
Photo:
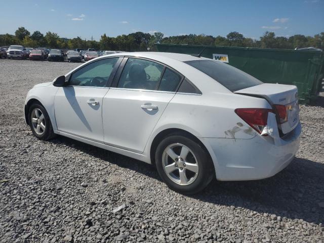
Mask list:
[[[302,103],[310,103],[321,89],[324,55],[318,50],[262,49],[155,44],[159,52],[173,52],[216,59],[264,83],[296,85]]]

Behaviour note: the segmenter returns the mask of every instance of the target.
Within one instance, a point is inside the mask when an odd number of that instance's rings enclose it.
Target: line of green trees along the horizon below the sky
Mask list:
[[[154,43],[162,44],[187,44],[187,45],[209,45],[209,46],[232,46],[232,47],[256,47],[295,49],[304,47],[315,47],[324,49],[324,32],[314,36],[295,34],[290,37],[275,36],[274,32],[265,32],[260,40],[244,37],[238,32],[230,32],[224,36],[212,36],[205,34],[185,34],[164,37],[161,32],[153,34],[135,32],[130,34],[109,37],[101,35],[99,41],[90,41],[76,38],[62,38],[57,33],[47,32],[46,34],[36,30],[32,34],[24,27],[19,27],[15,35],[0,35],[0,46],[23,45],[25,47],[47,47],[58,49],[95,48],[97,50],[120,50],[120,51],[146,51],[149,47],[155,50]]]

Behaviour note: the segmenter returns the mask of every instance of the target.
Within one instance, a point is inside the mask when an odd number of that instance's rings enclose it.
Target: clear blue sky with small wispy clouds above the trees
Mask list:
[[[3,6],[4,7],[4,6]],[[278,36],[324,32],[324,0],[121,0],[7,2],[0,34],[24,26],[31,33],[52,31],[61,37],[99,40],[136,31],[165,36],[237,31],[258,39],[265,31]]]

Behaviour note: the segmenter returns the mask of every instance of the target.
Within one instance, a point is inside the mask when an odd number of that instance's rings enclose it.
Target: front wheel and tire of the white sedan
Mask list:
[[[38,119],[37,121],[35,119]],[[36,138],[50,140],[56,136],[53,131],[50,116],[44,106],[33,103],[28,110],[28,124]]]

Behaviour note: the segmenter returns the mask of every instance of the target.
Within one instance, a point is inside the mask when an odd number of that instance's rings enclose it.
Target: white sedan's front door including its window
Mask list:
[[[55,95],[58,130],[103,143],[102,103],[118,58],[100,59],[73,72]]]

